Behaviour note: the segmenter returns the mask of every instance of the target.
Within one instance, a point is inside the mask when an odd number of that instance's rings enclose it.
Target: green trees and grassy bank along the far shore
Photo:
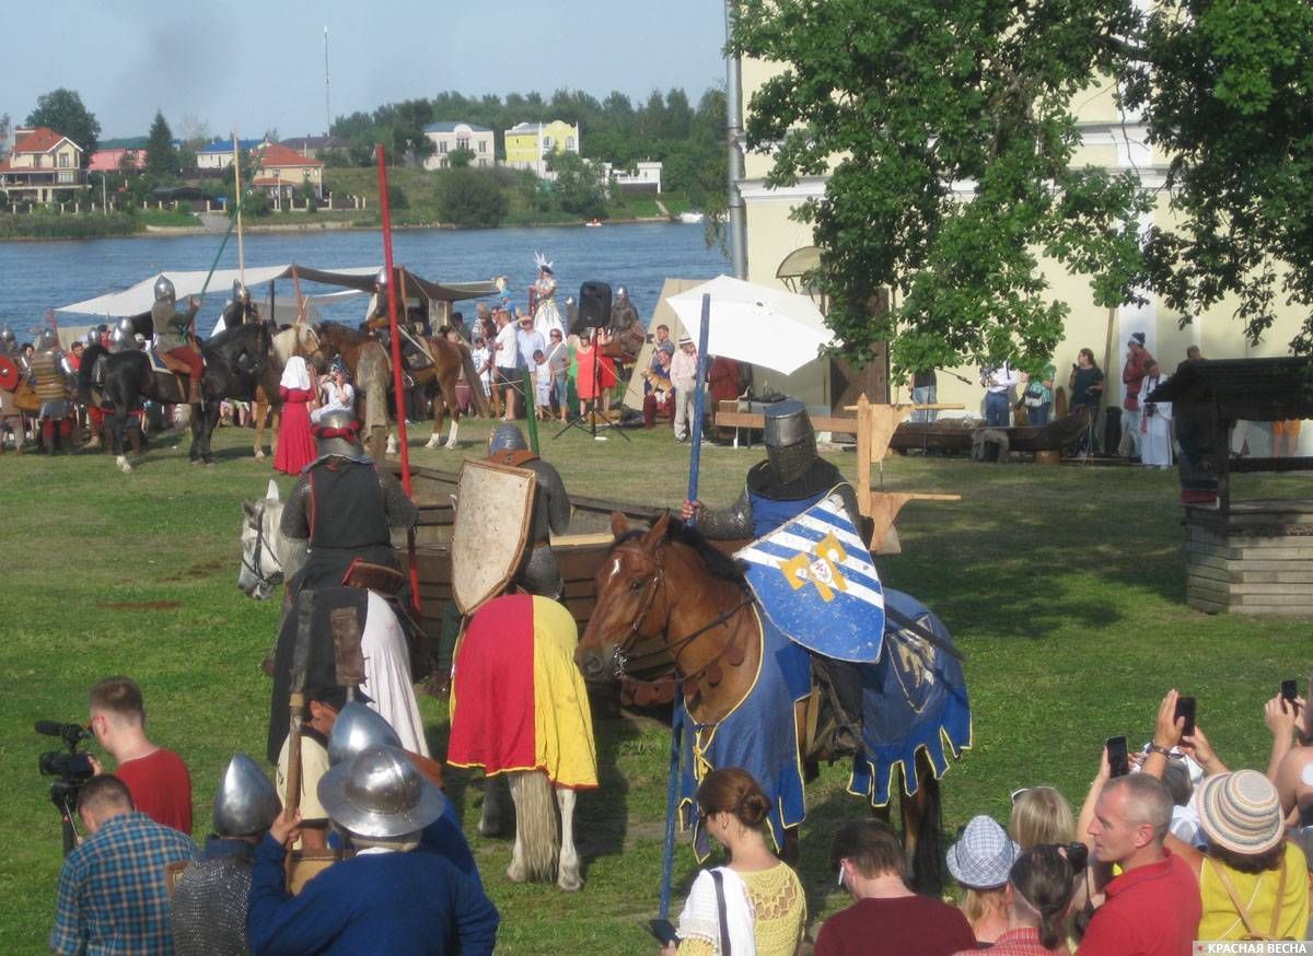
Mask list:
[[[504,160],[504,131],[520,122],[562,120],[580,127],[579,155],[550,159],[553,180],[532,171],[506,167],[474,168],[461,151],[448,156],[449,168],[428,171],[424,160],[435,144],[424,127],[435,122],[470,122],[494,130],[498,160]],[[156,113],[147,137],[97,142],[100,125],[75,91],[56,89],[38,98],[24,126],[75,129],[87,141],[84,163],[97,147],[142,150],[139,168],[131,154],[112,172],[87,175],[87,189],[56,196],[63,205],[33,206],[11,200],[0,190],[0,239],[95,238],[130,235],[148,226],[186,227],[200,222],[190,213],[234,196],[231,167],[201,169],[197,150],[221,141],[194,116],[183,117],[175,130]],[[0,141],[12,133],[9,117],[0,117]],[[253,135],[253,134],[252,134]],[[243,210],[252,225],[295,227],[306,215],[323,217],[322,225],[377,227],[378,194],[374,146],[386,147],[393,219],[399,226],[487,227],[500,225],[576,223],[580,219],[642,219],[676,215],[687,209],[716,214],[723,207],[725,92],[708,89],[691,102],[679,88],[654,89],[642,102],[612,92],[604,100],[570,89],[550,97],[511,93],[506,97],[445,92],[433,98],[389,102],[370,113],[337,117],[330,135],[336,146],[319,152],[324,162],[323,196],[309,181],[293,190],[290,202],[276,204],[247,189]],[[280,131],[265,130],[277,142]],[[76,142],[76,141],[75,141]],[[12,143],[11,143],[12,144]],[[77,143],[83,146],[81,142]],[[624,194],[611,188],[601,163],[616,171],[639,160],[660,160],[662,194]],[[243,185],[251,183],[255,162],[243,162]],[[186,189],[193,206],[173,205],[171,190]],[[110,215],[101,207],[109,201]],[[331,197],[331,202],[327,197]],[[75,205],[76,204],[76,205]],[[160,209],[163,204],[163,209]],[[231,202],[228,207],[231,209]],[[147,209],[147,206],[150,209]],[[11,213],[11,215],[4,215]],[[97,222],[91,222],[93,218]],[[117,213],[117,214],[116,214]]]

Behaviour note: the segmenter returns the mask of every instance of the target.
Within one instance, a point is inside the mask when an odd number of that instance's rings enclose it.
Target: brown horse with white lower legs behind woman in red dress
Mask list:
[[[479,377],[474,370],[474,360],[465,345],[437,337],[428,337],[424,341],[433,357],[433,365],[407,372],[418,385],[424,386],[424,394],[433,403],[433,432],[424,446],[437,448],[441,444],[442,420],[450,412],[452,428],[446,437],[446,448],[454,449],[461,422],[456,381],[461,372],[465,372],[465,381],[471,385],[470,391],[478,414],[483,416],[490,414],[487,397],[478,387]],[[316,362],[341,356],[356,383],[356,394],[364,398],[362,418],[370,456],[376,460],[383,457],[385,439],[386,452],[394,453],[395,441],[387,422],[387,393],[393,387],[391,358],[382,343],[336,322],[326,322],[319,327],[319,349],[315,352]]]

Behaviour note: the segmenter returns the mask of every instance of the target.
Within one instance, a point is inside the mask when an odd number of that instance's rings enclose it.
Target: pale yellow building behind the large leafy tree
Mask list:
[[[777,67],[760,60],[742,63],[744,116],[752,93],[776,72]],[[1078,122],[1082,131],[1082,144],[1074,162],[1102,165],[1113,171],[1134,169],[1141,181],[1153,189],[1159,189],[1166,179],[1167,163],[1148,143],[1146,127],[1141,117],[1123,116],[1113,101],[1111,84],[1082,93],[1078,100]],[[804,177],[796,185],[771,189],[765,185],[765,175],[771,168],[771,158],[748,152],[744,158],[744,180],[741,194],[747,217],[747,278],[763,285],[784,285],[777,276],[784,260],[793,252],[813,246],[811,228],[806,223],[790,218],[792,211],[807,198],[823,196],[826,177]],[[1141,226],[1169,227],[1173,222],[1167,209],[1165,192],[1158,193],[1158,204]],[[1121,366],[1125,362],[1127,341],[1133,332],[1145,334],[1145,344],[1163,372],[1171,374],[1184,360],[1186,349],[1199,345],[1204,356],[1212,358],[1243,358],[1257,356],[1288,355],[1288,343],[1295,336],[1302,315],[1295,309],[1283,309],[1278,320],[1258,345],[1245,341],[1242,323],[1233,318],[1234,302],[1215,306],[1183,328],[1182,315],[1169,310],[1152,293],[1142,306],[1121,306],[1120,309],[1099,307],[1086,277],[1069,273],[1061,264],[1041,260],[1041,268],[1050,285],[1054,299],[1069,307],[1066,335],[1053,356],[1058,369],[1054,385],[1066,387],[1067,373],[1082,348],[1090,348],[1099,366],[1107,374],[1108,404],[1120,407],[1123,395]],[[758,370],[758,376],[768,378],[772,390],[780,390],[804,399],[807,404],[835,404],[848,401],[851,389],[847,381],[839,381],[829,361],[813,362],[793,376],[784,377],[771,372]],[[962,383],[953,374],[966,378]],[[941,370],[939,374],[939,401],[966,406],[968,415],[983,418],[983,389],[978,387],[979,370],[960,368]],[[910,401],[906,382],[890,381],[889,397],[893,401]],[[952,412],[949,412],[952,414]],[[1255,454],[1267,454],[1270,433],[1267,425],[1250,425],[1247,440]],[[1302,436],[1301,454],[1309,454],[1313,440]]]

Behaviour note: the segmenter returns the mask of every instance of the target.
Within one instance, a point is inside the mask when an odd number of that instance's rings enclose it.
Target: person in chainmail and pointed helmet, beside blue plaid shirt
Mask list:
[[[228,760],[214,794],[214,833],[173,888],[176,956],[249,952],[246,918],[255,848],[281,809],[255,760],[246,754]]]

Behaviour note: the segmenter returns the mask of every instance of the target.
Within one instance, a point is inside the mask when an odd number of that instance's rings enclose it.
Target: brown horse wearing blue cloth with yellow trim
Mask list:
[[[826,741],[814,739],[815,708],[821,705],[814,679],[810,695],[783,692],[788,682],[772,684],[776,662],[789,654],[797,659],[800,649],[788,641],[771,643],[775,638],[763,628],[764,615],[737,562],[668,515],[647,532],[629,531],[625,519],[613,515],[612,533],[616,544],[597,571],[597,604],[579,641],[575,661],[588,680],[629,679],[633,672],[650,675],[654,668],[659,671],[672,663],[670,678],[630,679],[628,683],[630,689],[637,687],[638,703],[668,696],[671,691],[683,695],[676,700],[676,714],[681,716],[685,737],[693,738],[692,751],[696,752],[696,759],[691,760],[691,747],[685,742],[685,804],[697,781],[712,768],[746,763],[743,751],[735,751],[733,733],[772,741],[776,750],[759,754],[769,767],[813,764],[844,755],[830,751]],[[880,663],[860,666],[863,696],[868,701],[864,706],[867,730],[863,747],[855,755],[850,789],[867,796],[872,806],[888,814],[893,788],[902,777],[898,789],[905,850],[916,886],[931,892],[943,880],[944,861],[937,780],[947,770],[941,738],[955,754],[969,747],[970,714],[956,661],[918,637],[918,633],[932,632],[935,643],[951,646],[947,629],[915,599],[890,590],[884,595],[886,611],[894,613],[892,609],[897,607],[897,617],[913,624],[910,630],[886,629]],[[769,700],[750,703],[754,696],[775,693],[772,687],[781,692]],[[880,701],[880,709],[894,710],[872,716],[869,701],[873,700]],[[792,714],[788,708],[793,709]],[[930,712],[931,725],[916,725],[910,731],[920,734],[918,739],[889,741],[888,746],[880,739],[872,743],[873,735],[889,737],[888,731],[899,728],[909,733],[909,725],[924,712]],[[751,720],[754,729],[742,734],[744,725],[733,724],[731,717]],[[780,733],[781,726],[784,733]],[[784,752],[788,747],[794,751]],[[748,770],[756,773],[754,767]],[[801,808],[788,810],[779,804],[801,801],[801,783],[781,775],[772,792],[763,780],[777,804],[779,817],[772,819],[772,831],[786,859],[796,859],[796,825],[802,813]],[[783,839],[776,830],[779,826],[784,827]]]

